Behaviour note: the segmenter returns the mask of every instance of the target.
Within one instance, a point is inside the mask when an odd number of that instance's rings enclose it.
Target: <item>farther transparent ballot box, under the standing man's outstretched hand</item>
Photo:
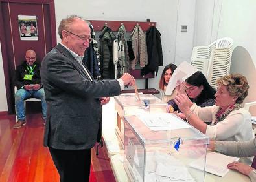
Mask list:
[[[167,103],[152,94],[139,94],[141,101],[135,94],[121,94],[115,96],[115,110],[117,111],[117,126],[115,133],[124,148],[124,122],[123,116],[134,116],[143,113],[167,112]]]

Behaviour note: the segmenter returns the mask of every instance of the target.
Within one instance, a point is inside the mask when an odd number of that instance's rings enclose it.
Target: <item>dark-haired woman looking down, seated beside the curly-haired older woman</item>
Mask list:
[[[205,107],[215,104],[216,91],[211,87],[211,85],[209,85],[202,72],[195,72],[192,74],[192,76],[185,80],[184,85],[180,84],[180,86],[178,86],[177,90],[179,93],[183,92],[182,90],[186,90],[189,99],[198,106]],[[178,106],[173,99],[168,101],[168,105],[172,106],[174,111],[178,110]],[[179,116],[182,119],[185,119],[184,114],[180,113]]]

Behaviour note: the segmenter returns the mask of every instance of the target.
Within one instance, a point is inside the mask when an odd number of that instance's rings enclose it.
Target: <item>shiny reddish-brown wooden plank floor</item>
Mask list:
[[[15,116],[0,116],[0,182],[60,181],[48,148],[43,147],[41,114],[27,114],[27,125],[13,129]],[[96,148],[96,147],[95,147]],[[104,148],[92,150],[90,181],[115,181]]]

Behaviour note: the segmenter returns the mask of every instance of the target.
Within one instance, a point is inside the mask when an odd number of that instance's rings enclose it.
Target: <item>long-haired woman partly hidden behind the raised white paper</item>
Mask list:
[[[170,63],[169,65],[166,65],[165,68],[163,68],[163,72],[161,74],[161,78],[159,81],[159,89],[161,90],[161,97],[162,101],[167,103],[170,99],[174,99],[176,97],[176,89],[173,90],[172,95],[165,95],[165,90],[167,88],[167,85],[169,83],[170,78],[172,77],[172,74],[174,70],[177,68],[176,65]]]

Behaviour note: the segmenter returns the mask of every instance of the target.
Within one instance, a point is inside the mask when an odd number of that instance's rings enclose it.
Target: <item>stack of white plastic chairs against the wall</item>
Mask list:
[[[217,88],[216,79],[229,74],[233,39],[222,38],[207,46],[193,48],[191,65],[204,74],[213,88]]]

